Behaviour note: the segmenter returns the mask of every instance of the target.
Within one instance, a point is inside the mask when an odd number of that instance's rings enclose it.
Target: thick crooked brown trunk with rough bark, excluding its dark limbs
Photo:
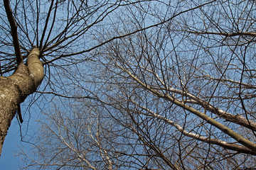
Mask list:
[[[34,48],[10,77],[0,77],[0,155],[4,138],[14,118],[19,103],[36,91],[43,80],[43,64],[38,59],[39,50]]]

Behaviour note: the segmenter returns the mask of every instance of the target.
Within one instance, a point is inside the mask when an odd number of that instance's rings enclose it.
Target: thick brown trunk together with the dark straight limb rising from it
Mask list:
[[[11,28],[11,37],[13,41],[16,72],[10,77],[0,77],[0,155],[4,144],[7,130],[11,125],[11,120],[14,118],[16,110],[19,111],[19,118],[22,123],[19,104],[22,103],[29,94],[33,94],[43,80],[43,64],[39,60],[40,52],[38,48],[33,48],[27,57],[27,66],[23,64],[23,57],[18,42],[17,26],[14,20],[13,13],[9,1],[4,1],[6,16]]]

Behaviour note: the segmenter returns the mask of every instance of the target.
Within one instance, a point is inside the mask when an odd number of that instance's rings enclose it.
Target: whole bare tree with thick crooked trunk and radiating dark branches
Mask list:
[[[127,4],[130,2],[1,2],[0,153],[16,110],[36,92],[43,72],[43,88],[55,89],[50,79],[55,72],[51,69],[88,60],[84,53],[100,46],[88,37],[90,32],[118,6]],[[19,118],[22,123],[20,111]]]

